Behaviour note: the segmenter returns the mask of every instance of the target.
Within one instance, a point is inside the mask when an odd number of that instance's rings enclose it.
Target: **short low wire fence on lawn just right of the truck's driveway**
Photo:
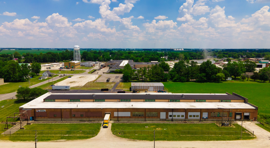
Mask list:
[[[162,130],[155,131],[156,136],[162,136]],[[114,135],[154,135],[153,130],[114,130]]]

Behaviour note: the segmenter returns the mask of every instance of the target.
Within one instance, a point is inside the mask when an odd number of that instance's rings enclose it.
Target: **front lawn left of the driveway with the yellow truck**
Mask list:
[[[18,130],[18,135],[23,135],[23,133],[27,133],[28,130],[39,130],[38,131],[38,139],[39,141],[52,141],[52,140],[79,140],[79,139],[89,139],[94,137],[94,132],[97,135],[101,123],[78,123],[78,124],[32,124],[25,125],[25,130]],[[48,130],[55,130],[49,131]],[[61,130],[63,136],[61,136]],[[82,130],[82,132],[80,132]],[[91,130],[91,132],[86,132],[86,130]],[[28,131],[29,133],[29,131]],[[87,135],[87,134],[93,135]],[[34,139],[34,131],[30,132],[30,135],[17,136],[17,132],[12,136],[0,136],[0,140],[10,140],[10,141],[33,141]],[[47,135],[46,135],[47,134]],[[60,135],[54,135],[60,134]],[[75,135],[72,135],[75,134]],[[68,136],[70,135],[70,136]]]

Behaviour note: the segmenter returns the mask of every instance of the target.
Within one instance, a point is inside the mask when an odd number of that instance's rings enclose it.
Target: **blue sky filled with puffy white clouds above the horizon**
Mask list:
[[[270,48],[270,0],[0,0],[0,47]]]

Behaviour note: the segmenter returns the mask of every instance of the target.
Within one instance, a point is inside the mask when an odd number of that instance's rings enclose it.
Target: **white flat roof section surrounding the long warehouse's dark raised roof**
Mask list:
[[[46,93],[20,106],[19,108],[21,109],[52,109],[52,108],[255,109],[255,107],[252,107],[243,102],[43,102],[43,99],[51,94],[52,93]],[[66,93],[53,93],[53,94],[60,95]],[[78,93],[70,93],[70,94],[78,94]],[[91,95],[92,93],[83,93],[83,94]]]

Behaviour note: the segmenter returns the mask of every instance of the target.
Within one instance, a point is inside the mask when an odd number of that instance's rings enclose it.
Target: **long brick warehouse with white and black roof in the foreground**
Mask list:
[[[258,107],[236,93],[46,93],[19,107],[35,121],[256,121]],[[224,110],[230,110],[224,111]]]

